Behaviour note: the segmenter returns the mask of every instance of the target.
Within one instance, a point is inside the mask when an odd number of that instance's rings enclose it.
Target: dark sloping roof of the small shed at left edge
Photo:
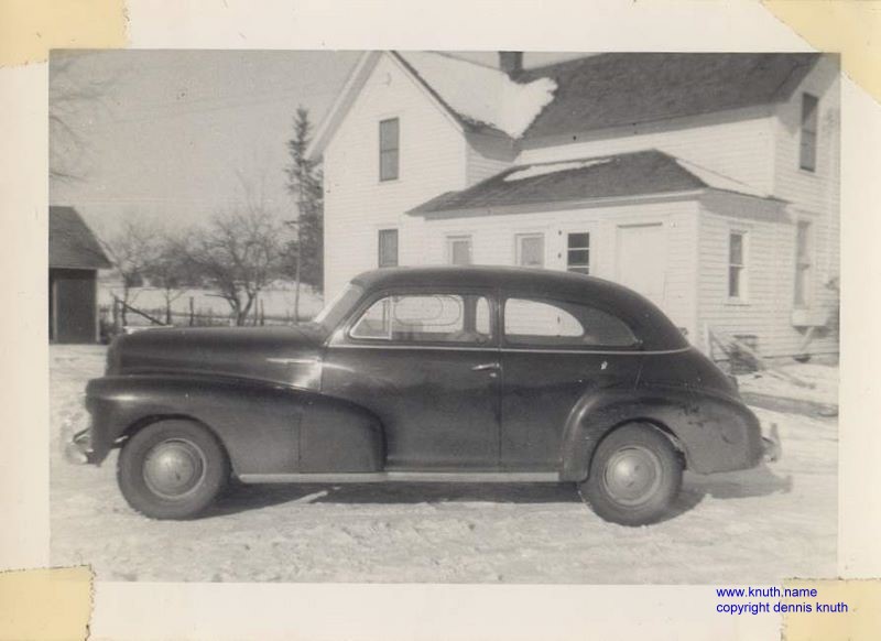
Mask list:
[[[109,269],[98,239],[73,207],[48,208],[48,267]]]

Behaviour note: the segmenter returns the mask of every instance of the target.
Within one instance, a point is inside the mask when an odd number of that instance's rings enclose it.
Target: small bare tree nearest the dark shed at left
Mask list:
[[[105,251],[122,281],[120,319],[128,324],[128,305],[134,300],[132,290],[143,284],[144,276],[155,264],[160,245],[155,225],[140,218],[127,218],[104,242]]]

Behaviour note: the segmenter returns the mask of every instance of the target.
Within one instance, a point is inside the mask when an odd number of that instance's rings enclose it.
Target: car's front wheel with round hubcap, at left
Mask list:
[[[152,519],[186,519],[207,508],[230,476],[229,459],[202,425],[161,421],[122,447],[117,481],[129,504]]]

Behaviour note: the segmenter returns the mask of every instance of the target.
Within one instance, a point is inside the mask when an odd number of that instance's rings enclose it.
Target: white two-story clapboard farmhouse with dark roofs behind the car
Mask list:
[[[765,356],[834,354],[838,61],[371,52],[309,153],[325,286],[388,265],[573,270]]]

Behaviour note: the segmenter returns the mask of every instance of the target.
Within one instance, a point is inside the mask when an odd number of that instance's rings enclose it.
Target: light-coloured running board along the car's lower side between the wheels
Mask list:
[[[242,474],[243,484],[541,484],[559,482],[555,471],[370,471],[316,474]]]

